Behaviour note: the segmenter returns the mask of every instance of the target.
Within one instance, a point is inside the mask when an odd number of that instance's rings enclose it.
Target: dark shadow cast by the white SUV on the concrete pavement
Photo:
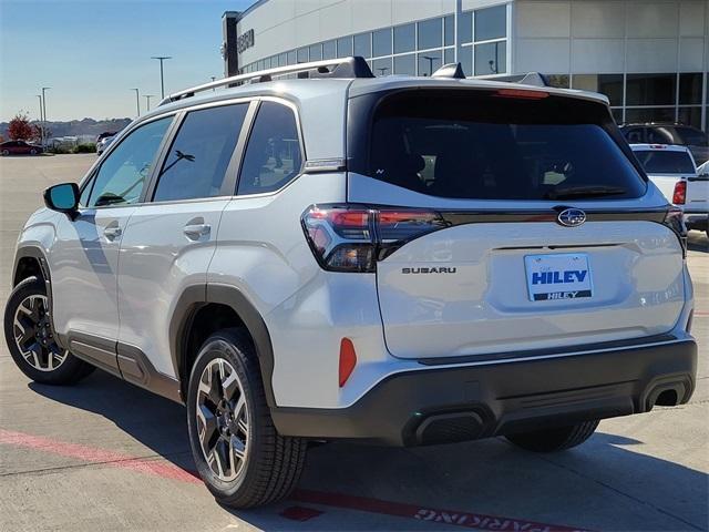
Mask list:
[[[101,371],[75,387],[29,386],[111,420],[156,454],[194,472],[184,407]],[[299,489],[597,530],[707,529],[707,474],[648,456],[643,442],[606,433],[603,427],[584,446],[558,454],[522,451],[502,438],[410,449],[319,446],[309,453]],[[342,509],[312,504],[306,504],[306,513],[308,508],[322,513],[302,521],[282,516],[288,515],[285,510],[302,510],[297,501],[224,510],[269,531],[391,530],[400,520],[352,509],[342,515]],[[439,530],[442,523],[430,524]],[[422,525],[412,514],[400,526]]]

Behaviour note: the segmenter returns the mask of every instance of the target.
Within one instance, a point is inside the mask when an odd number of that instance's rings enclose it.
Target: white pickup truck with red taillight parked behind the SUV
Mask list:
[[[699,168],[686,146],[668,144],[631,144],[630,147],[648,177],[665,197],[681,207],[690,229],[709,235],[709,166]]]

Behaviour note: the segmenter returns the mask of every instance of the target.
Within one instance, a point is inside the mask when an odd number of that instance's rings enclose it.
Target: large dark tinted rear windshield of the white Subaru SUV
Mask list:
[[[377,108],[366,171],[450,198],[639,197],[645,182],[608,127],[594,102],[410,91]]]

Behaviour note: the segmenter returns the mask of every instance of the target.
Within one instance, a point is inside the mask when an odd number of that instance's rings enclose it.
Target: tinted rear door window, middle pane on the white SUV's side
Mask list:
[[[154,202],[230,194],[222,185],[248,104],[187,113],[160,172]]]

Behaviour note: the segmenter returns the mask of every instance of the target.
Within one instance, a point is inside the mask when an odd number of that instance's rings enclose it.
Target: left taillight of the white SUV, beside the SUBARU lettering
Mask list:
[[[302,214],[302,228],[325,269],[372,273],[404,243],[448,223],[434,211],[366,205],[314,205]]]

